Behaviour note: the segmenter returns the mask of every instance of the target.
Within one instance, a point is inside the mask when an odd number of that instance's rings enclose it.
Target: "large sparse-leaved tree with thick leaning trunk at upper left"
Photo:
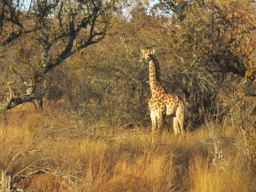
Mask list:
[[[112,6],[112,1],[101,0],[31,0],[30,4],[1,1],[1,63],[19,75],[26,93],[1,103],[0,112],[33,101],[48,71],[101,41],[111,26]],[[7,50],[12,50],[12,55]],[[18,71],[21,65],[26,66],[25,72]]]

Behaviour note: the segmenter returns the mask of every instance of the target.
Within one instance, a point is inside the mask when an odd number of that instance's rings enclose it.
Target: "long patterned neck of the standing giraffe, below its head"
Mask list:
[[[159,78],[157,63],[155,62],[155,58],[153,57],[153,55],[151,56],[151,59],[149,61],[149,81],[152,94],[155,93],[155,90],[157,88],[162,88],[163,90],[165,90],[165,92],[167,91],[165,85]]]

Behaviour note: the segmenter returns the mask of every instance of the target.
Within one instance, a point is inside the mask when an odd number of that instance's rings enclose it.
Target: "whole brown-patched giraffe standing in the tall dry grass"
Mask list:
[[[176,138],[181,132],[182,139],[185,140],[185,105],[182,98],[178,95],[170,94],[158,75],[158,64],[153,56],[155,49],[141,50],[143,55],[139,62],[146,61],[149,63],[149,80],[152,97],[148,103],[150,109],[150,117],[152,121],[152,133],[158,135],[161,140],[163,116],[170,116],[173,121],[173,129]],[[180,128],[179,126],[180,125]]]

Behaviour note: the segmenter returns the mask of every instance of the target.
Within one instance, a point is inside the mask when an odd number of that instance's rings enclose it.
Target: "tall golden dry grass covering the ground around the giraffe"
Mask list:
[[[44,152],[26,155],[8,171],[19,172],[44,157],[49,159],[37,163],[38,167],[52,167],[72,178],[39,174],[16,186],[47,192],[255,191],[255,177],[245,168],[236,146],[229,140],[222,143],[225,160],[212,164],[213,147],[200,141],[208,139],[204,127],[188,132],[186,143],[176,142],[173,133],[165,131],[162,145],[152,151],[150,131],[145,128],[81,131],[71,120],[61,118],[64,114],[56,114],[53,119],[47,111],[8,112],[0,125],[1,169],[8,167],[18,151],[26,151],[38,140],[34,148],[45,149]],[[236,135],[230,129],[216,129],[221,136]]]

